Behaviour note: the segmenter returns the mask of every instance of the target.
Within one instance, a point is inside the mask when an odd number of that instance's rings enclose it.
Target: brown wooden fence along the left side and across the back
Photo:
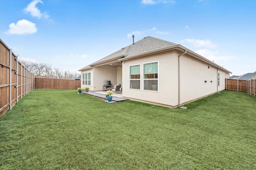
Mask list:
[[[80,80],[35,78],[0,39],[0,116],[34,89],[77,89]]]

